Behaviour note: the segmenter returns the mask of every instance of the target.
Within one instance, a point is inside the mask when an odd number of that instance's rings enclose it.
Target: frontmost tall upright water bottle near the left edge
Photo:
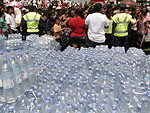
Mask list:
[[[2,80],[3,80],[3,95],[7,103],[13,103],[17,100],[15,77],[12,68],[6,59],[3,59],[2,64]]]

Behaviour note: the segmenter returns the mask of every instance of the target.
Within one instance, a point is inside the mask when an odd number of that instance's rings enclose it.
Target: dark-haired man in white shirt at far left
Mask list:
[[[15,17],[13,15],[13,7],[8,6],[7,11],[8,11],[8,14],[6,14],[5,20],[8,25],[9,33],[10,34],[18,33],[16,29],[16,24],[15,24]]]

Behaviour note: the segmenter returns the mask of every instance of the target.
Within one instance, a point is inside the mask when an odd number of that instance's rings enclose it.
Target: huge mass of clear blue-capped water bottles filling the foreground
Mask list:
[[[10,60],[2,56],[2,112],[150,112],[150,57],[141,50],[130,48],[125,54],[121,47],[97,46],[29,51],[11,52]]]

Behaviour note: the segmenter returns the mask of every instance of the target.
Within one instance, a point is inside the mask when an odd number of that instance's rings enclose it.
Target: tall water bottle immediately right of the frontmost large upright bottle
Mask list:
[[[19,64],[15,61],[15,56],[10,57],[10,66],[15,76],[16,94],[17,96],[22,96],[24,93],[23,84],[22,84],[23,78],[22,78],[21,68]]]

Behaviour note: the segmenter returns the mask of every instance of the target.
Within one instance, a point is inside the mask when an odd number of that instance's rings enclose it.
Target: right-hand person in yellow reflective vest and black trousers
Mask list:
[[[120,13],[112,17],[112,45],[124,46],[125,52],[127,52],[129,48],[128,38],[130,38],[132,16],[125,13],[125,8],[124,5],[120,6]]]

